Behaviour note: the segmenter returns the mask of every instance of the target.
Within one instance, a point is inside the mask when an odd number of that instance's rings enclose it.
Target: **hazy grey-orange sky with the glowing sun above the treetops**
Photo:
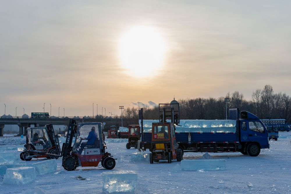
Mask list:
[[[290,96],[290,4],[0,0],[0,115],[250,100],[266,84]]]

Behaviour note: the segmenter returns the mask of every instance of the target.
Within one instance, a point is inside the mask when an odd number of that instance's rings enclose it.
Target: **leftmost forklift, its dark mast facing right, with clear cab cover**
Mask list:
[[[26,130],[26,144],[20,159],[30,161],[32,158],[57,159],[61,157],[58,135],[52,124],[45,127],[30,127]]]

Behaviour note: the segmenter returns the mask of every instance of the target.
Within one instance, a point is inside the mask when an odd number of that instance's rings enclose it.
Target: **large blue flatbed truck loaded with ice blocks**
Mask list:
[[[180,120],[175,125],[175,138],[184,152],[241,152],[258,156],[260,150],[270,148],[268,131],[262,121],[247,111],[230,109],[233,120]],[[139,150],[151,151],[152,123],[157,120],[140,120]]]

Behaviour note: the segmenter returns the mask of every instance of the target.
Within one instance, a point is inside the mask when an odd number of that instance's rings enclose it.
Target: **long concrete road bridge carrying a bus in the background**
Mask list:
[[[121,118],[74,118],[77,123],[93,123],[93,122],[101,122],[105,124],[105,131],[109,129],[112,125],[119,125],[123,127],[127,127],[128,125],[138,124],[138,119],[121,119]],[[48,124],[53,125],[66,125],[68,126],[70,121],[69,117],[65,118],[1,118],[0,119],[0,136],[4,134],[4,126],[5,125],[18,125],[19,126],[19,135],[25,135],[26,129],[28,127],[36,126],[42,127]]]

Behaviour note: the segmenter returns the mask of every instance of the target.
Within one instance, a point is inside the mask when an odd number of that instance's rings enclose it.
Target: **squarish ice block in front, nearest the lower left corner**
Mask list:
[[[3,184],[22,185],[34,182],[36,170],[34,167],[7,168]]]

